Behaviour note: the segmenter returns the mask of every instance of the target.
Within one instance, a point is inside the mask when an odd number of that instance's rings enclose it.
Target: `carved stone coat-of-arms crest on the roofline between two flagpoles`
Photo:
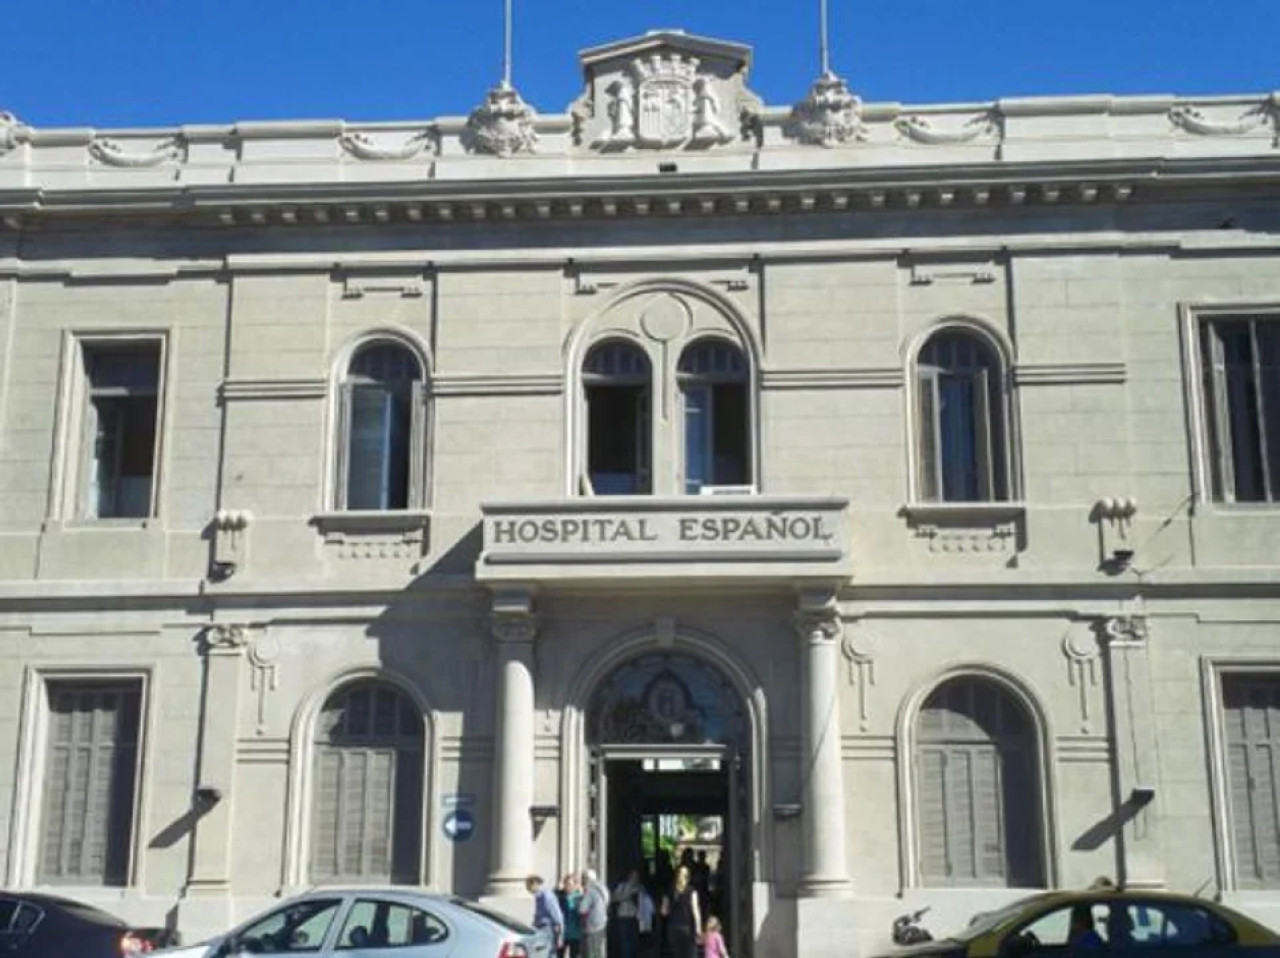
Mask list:
[[[654,31],[580,55],[586,90],[572,113],[579,146],[600,152],[699,150],[741,142],[760,100],[751,49]]]

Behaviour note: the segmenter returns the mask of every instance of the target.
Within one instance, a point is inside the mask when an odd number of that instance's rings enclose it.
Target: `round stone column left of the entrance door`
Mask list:
[[[532,593],[498,593],[490,628],[497,640],[492,868],[485,894],[525,894],[532,868],[534,826],[534,637]]]

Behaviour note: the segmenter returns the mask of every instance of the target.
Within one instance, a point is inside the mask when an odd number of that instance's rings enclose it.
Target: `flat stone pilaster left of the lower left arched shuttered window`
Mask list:
[[[205,630],[205,688],[200,715],[200,776],[183,818],[193,830],[191,871],[179,907],[188,927],[227,927],[230,914],[232,790],[243,685],[243,625]],[[189,899],[206,899],[201,903]],[[219,923],[221,922],[221,923]]]

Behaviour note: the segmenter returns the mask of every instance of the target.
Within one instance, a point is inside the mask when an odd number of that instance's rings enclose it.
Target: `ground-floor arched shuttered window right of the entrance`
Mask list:
[[[1032,717],[997,683],[945,681],[915,736],[920,879],[925,885],[1044,884]]]

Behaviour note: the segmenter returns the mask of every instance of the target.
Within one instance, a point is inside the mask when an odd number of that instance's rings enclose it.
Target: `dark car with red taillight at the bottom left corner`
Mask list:
[[[122,958],[178,944],[101,908],[56,895],[0,891],[0,958]]]

